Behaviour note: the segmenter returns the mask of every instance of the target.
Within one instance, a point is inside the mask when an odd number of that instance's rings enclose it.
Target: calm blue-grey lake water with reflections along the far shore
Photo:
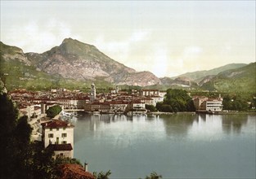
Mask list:
[[[255,178],[256,116],[90,116],[74,120],[74,157],[111,178]]]

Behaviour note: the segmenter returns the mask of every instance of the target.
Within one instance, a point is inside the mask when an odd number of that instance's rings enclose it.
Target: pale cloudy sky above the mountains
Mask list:
[[[2,1],[1,41],[43,53],[71,37],[158,77],[255,62],[255,1]]]

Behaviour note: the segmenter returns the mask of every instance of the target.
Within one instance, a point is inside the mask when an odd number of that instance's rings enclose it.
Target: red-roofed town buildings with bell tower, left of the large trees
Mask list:
[[[132,90],[132,93],[110,89],[110,93],[97,94],[92,83],[90,93],[78,90],[52,89],[47,92],[30,92],[25,89],[11,91],[11,98],[18,104],[20,115],[29,119],[45,113],[48,107],[60,105],[64,111],[88,111],[106,113],[126,113],[128,111],[146,111],[146,105],[155,106],[164,101],[166,92],[157,89]]]

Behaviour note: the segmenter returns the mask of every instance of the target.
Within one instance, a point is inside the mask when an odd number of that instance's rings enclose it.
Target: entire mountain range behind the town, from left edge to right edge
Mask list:
[[[253,91],[255,84],[254,77],[251,76],[255,74],[254,68],[251,68],[254,63],[231,63],[208,71],[158,78],[151,72],[136,72],[110,59],[97,47],[72,38],[66,38],[60,46],[55,46],[42,54],[24,53],[19,47],[7,46],[2,42],[0,45],[0,77],[9,89],[47,89],[65,86],[84,89],[94,81],[103,88],[108,85],[137,85],[150,88],[161,86],[160,89],[240,90],[237,88],[239,84],[231,85],[232,81],[236,81],[249,86],[248,89]]]

